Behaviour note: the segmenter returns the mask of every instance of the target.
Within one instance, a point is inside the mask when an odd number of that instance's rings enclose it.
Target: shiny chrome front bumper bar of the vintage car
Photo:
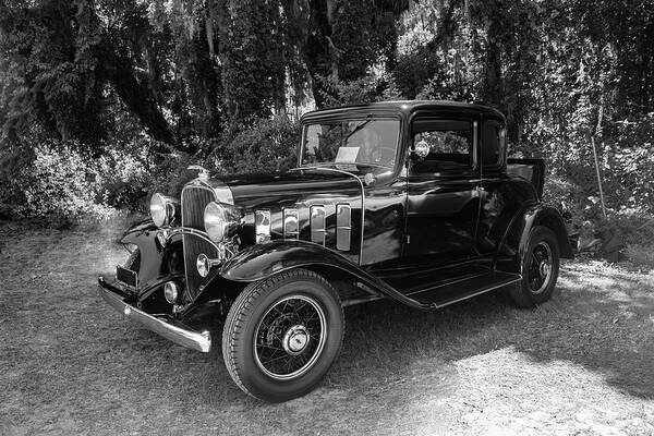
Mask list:
[[[166,339],[182,347],[208,353],[211,349],[211,336],[208,331],[194,331],[187,327],[175,326],[167,320],[149,315],[133,305],[125,303],[118,288],[98,278],[98,292],[109,305],[122,313],[125,318],[133,319]]]

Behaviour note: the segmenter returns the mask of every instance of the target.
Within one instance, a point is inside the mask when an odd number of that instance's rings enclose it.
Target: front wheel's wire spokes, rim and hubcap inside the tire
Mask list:
[[[276,329],[272,340],[270,328]],[[325,312],[310,296],[295,294],[277,301],[256,329],[254,355],[257,365],[275,379],[300,377],[319,358],[325,346],[326,328]],[[270,355],[270,348],[280,349],[283,353]]]

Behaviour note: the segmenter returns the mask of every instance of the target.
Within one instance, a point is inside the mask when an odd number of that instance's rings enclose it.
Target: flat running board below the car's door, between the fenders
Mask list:
[[[495,270],[465,278],[464,280],[426,287],[422,290],[409,292],[405,295],[423,305],[431,305],[432,308],[440,308],[507,284],[516,283],[521,279],[522,276],[518,274]],[[462,289],[465,289],[465,291],[461,291]]]

